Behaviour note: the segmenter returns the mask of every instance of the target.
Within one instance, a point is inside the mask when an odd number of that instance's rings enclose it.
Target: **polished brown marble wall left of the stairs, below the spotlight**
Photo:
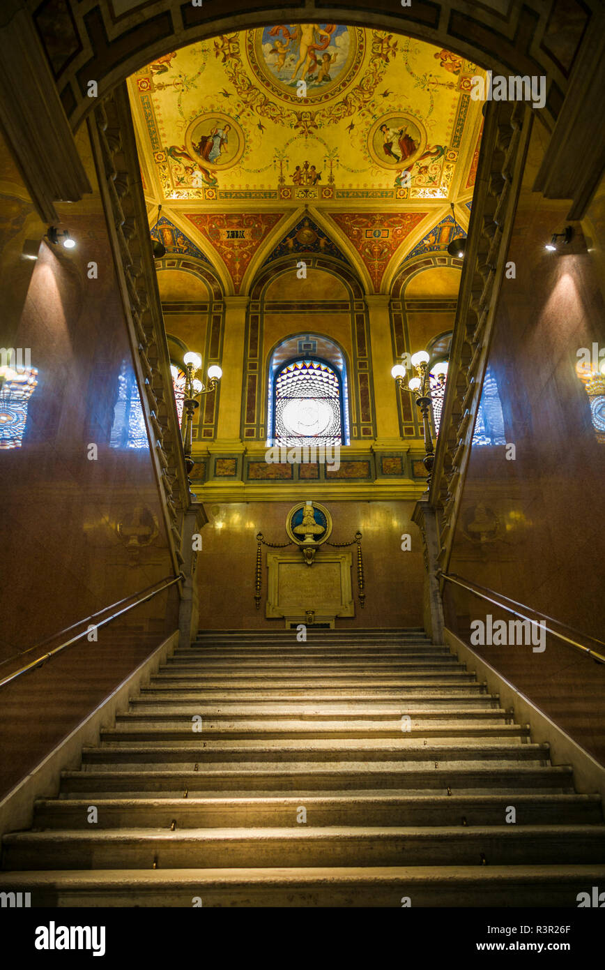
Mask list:
[[[79,137],[86,155],[85,130]],[[18,372],[3,371],[0,677],[68,639],[65,628],[173,575],[98,193],[61,207],[78,243],[67,250],[43,239],[46,227],[25,225],[26,191],[12,184],[9,194],[3,182],[0,211],[6,225],[16,200],[24,207],[7,245],[28,285],[17,306],[11,275],[0,274],[11,309],[3,345],[20,348],[23,364],[29,356],[35,384],[23,401]],[[18,234],[33,238],[37,258]],[[3,267],[8,258],[5,248]],[[175,630],[176,598],[173,588],[0,689],[0,794]]]

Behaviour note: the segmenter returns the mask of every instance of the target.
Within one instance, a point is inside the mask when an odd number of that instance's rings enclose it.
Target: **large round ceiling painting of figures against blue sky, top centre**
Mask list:
[[[334,23],[275,24],[248,30],[252,72],[271,94],[290,104],[338,97],[359,72],[366,48],[362,27]],[[300,81],[306,92],[300,95]]]

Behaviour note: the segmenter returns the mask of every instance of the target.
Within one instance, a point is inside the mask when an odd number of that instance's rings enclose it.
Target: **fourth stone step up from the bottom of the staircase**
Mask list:
[[[199,763],[199,762],[196,762]],[[81,794],[94,797],[95,792],[127,792],[132,797],[142,796],[145,792],[157,794],[171,793],[193,797],[194,792],[229,792],[230,794],[251,792],[294,793],[334,792],[351,790],[403,790],[408,794],[441,792],[448,788],[454,794],[485,792],[505,792],[512,796],[515,792],[565,793],[573,792],[573,771],[568,765],[536,765],[515,762],[513,764],[494,764],[481,766],[468,763],[440,762],[441,766],[425,767],[414,762],[391,762],[386,766],[372,763],[347,763],[337,765],[305,764],[270,767],[244,763],[243,766],[213,764],[203,770],[182,767],[152,769],[96,765],[80,771],[61,772],[61,793],[64,796]],[[187,796],[188,796],[187,795]]]

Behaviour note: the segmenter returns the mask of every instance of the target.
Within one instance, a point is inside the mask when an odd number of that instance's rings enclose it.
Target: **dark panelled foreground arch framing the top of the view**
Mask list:
[[[594,0],[589,2],[596,7]],[[97,101],[87,96],[90,79],[97,81],[98,95],[103,97],[145,64],[172,50],[235,30],[266,26],[275,19],[272,11],[279,22],[283,11],[280,0],[266,0],[262,8],[254,0],[239,0],[237,9],[228,14],[219,0],[209,0],[209,15],[206,4],[196,7],[183,5],[182,0],[156,0],[142,17],[140,4],[116,14],[109,0],[99,0],[92,9],[80,0],[65,0],[61,19],[65,36],[57,53],[52,43],[56,24],[52,16],[45,16],[45,6],[44,2],[38,6],[34,23],[74,130]],[[588,7],[585,10],[584,22],[566,25],[573,53],[560,49],[550,35],[542,0],[511,0],[504,13],[494,0],[472,7],[466,0],[414,0],[393,13],[346,3],[322,6],[308,0],[288,16],[293,22],[323,19],[406,34],[452,50],[495,74],[545,75],[548,94],[543,115],[552,127],[589,20],[596,13]],[[564,16],[563,12],[558,16]]]

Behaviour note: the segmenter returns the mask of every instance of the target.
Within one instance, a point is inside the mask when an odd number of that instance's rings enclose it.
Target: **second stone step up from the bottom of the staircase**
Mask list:
[[[7,869],[605,863],[605,825],[148,828],[14,832]]]

